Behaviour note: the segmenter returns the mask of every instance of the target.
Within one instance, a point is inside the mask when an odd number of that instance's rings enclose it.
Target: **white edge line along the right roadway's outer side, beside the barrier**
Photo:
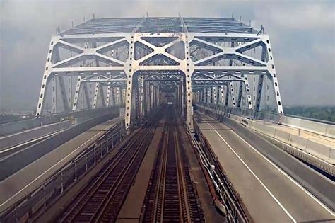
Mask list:
[[[331,215],[335,216],[335,213],[332,212],[326,205],[324,205],[319,199],[317,199],[314,195],[312,195],[312,193],[310,193],[310,191],[306,190],[304,187],[302,187],[302,185],[300,185],[297,181],[295,181],[291,176],[288,175],[288,173],[286,173],[285,171],[283,171],[281,168],[279,168],[276,164],[274,164],[274,162],[272,162],[270,159],[268,159],[266,156],[264,156],[263,154],[261,154],[257,149],[255,149],[254,147],[252,147],[251,144],[249,144],[247,141],[245,141],[245,139],[243,139],[242,137],[240,137],[240,135],[237,135],[236,132],[234,132],[232,130],[232,132],[239,137],[243,142],[245,142],[245,144],[247,144],[250,148],[254,149],[254,151],[257,152],[257,154],[259,154],[261,157],[263,157],[266,161],[269,162],[269,164],[271,164],[272,166],[274,166],[279,172],[281,172],[283,174],[283,176],[286,176],[288,179],[290,179],[290,181],[292,181],[293,183],[295,183],[295,185],[297,185],[302,191],[304,191],[305,193],[307,193],[307,195],[310,196],[310,198],[312,198],[313,200],[315,200],[319,205],[321,205],[325,210],[327,210],[327,212],[329,212]]]

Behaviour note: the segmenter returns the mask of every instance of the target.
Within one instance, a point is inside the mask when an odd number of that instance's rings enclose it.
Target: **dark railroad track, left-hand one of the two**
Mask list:
[[[158,125],[156,115],[81,190],[58,222],[114,222]]]

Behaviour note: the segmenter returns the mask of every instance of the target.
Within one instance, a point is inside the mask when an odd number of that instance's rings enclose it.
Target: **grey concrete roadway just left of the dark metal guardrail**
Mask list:
[[[42,156],[32,164],[14,173],[0,182],[0,210],[6,209],[16,200],[30,193],[49,176],[52,176],[61,166],[73,159],[90,143],[109,130],[120,118],[114,118],[90,128],[74,139],[57,147],[49,154]]]

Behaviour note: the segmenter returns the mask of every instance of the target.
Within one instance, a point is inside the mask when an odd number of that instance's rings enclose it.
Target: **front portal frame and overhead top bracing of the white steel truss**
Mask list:
[[[226,45],[231,42],[239,44]],[[195,50],[190,50],[191,47]],[[256,47],[263,49],[261,59],[245,54]],[[70,57],[59,58],[60,49],[68,50]],[[198,58],[201,55],[203,58]],[[240,64],[224,64],[221,62],[224,59]],[[53,76],[81,76],[77,81],[78,91],[87,82],[125,84],[128,127],[136,75],[145,75],[146,81],[151,76],[163,80],[180,79],[178,75],[181,75],[187,125],[191,129],[192,84],[199,88],[201,84],[243,81],[249,75],[267,76],[274,88],[278,113],[283,114],[269,35],[258,33],[233,18],[180,17],[93,19],[53,36],[36,116],[42,114],[47,85]],[[259,91],[260,98],[261,88]]]

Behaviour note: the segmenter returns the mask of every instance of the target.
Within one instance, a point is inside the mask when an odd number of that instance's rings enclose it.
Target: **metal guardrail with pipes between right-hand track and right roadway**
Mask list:
[[[195,121],[194,133],[195,135],[189,132],[192,136],[192,144],[198,150],[201,164],[206,168],[215,186],[216,193],[225,207],[225,215],[227,215],[228,222],[254,222],[240,195],[233,187],[233,183],[230,182],[216,155],[213,153],[211,145]]]

